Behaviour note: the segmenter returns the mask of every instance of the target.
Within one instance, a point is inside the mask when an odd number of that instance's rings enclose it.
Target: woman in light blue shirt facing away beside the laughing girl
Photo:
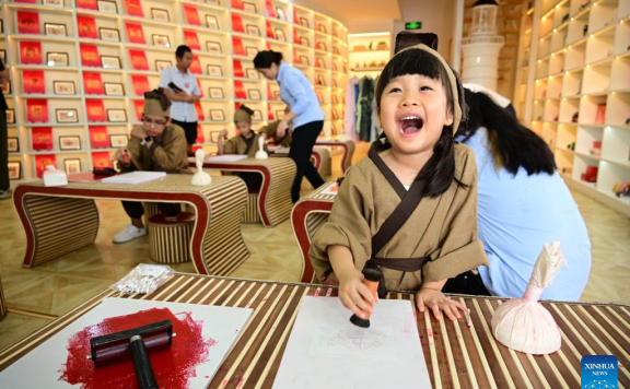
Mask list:
[[[559,240],[568,266],[541,298],[580,299],[591,271],[591,241],[553,154],[487,94],[465,94],[468,122],[458,140],[477,158],[479,240],[490,261],[478,269],[485,286],[493,295],[521,297],[542,244]]]

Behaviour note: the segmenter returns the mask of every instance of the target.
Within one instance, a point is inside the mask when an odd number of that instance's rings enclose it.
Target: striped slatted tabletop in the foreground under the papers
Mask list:
[[[315,284],[249,281],[177,273],[150,295],[126,298],[248,307],[254,313],[210,386],[212,389],[271,388],[302,296],[336,296],[337,288]],[[105,291],[0,353],[0,370],[68,326],[105,297]],[[413,294],[392,293],[387,298],[409,299]],[[630,307],[612,304],[547,302],[562,331],[562,347],[551,355],[534,356],[512,351],[491,334],[494,297],[453,295],[470,308],[466,321],[436,321],[416,311],[418,332],[431,384],[441,388],[580,388],[583,355],[615,355],[619,359],[619,388],[630,388]],[[59,366],[65,361],[59,361]],[[1,384],[1,382],[0,382]]]

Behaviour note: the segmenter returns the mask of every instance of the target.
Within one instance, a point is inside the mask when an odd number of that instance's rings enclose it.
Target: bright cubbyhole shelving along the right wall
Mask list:
[[[571,187],[630,215],[630,0],[542,0],[532,129]]]

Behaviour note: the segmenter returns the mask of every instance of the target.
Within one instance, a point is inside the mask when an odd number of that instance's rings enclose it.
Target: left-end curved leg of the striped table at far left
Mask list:
[[[94,200],[28,194],[20,189],[16,188],[13,201],[26,233],[24,267],[94,243],[98,233]]]

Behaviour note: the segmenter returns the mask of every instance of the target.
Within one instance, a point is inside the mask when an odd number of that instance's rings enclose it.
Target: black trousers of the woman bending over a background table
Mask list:
[[[302,177],[306,179],[313,188],[318,188],[324,185],[324,180],[317,173],[317,169],[311,163],[311,154],[319,133],[324,129],[324,121],[312,121],[304,126],[293,129],[293,141],[289,150],[289,157],[295,162],[295,180],[291,187],[291,200],[293,203],[300,200],[300,187],[302,186]]]

